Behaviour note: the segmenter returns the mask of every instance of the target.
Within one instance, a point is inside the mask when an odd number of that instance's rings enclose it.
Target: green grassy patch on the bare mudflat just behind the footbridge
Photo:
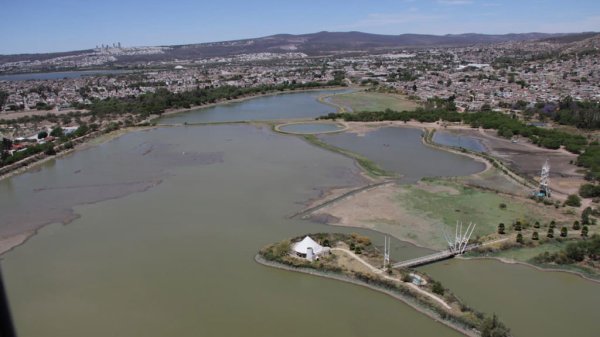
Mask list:
[[[398,196],[398,202],[411,212],[454,229],[456,221],[477,224],[474,235],[485,236],[496,232],[499,223],[510,226],[522,222],[550,221],[544,209],[524,203],[521,199],[464,187],[452,182],[434,180],[407,186]],[[505,204],[501,208],[500,204]]]

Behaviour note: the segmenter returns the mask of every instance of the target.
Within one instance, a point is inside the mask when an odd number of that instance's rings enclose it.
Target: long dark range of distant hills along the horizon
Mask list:
[[[471,33],[448,35],[380,35],[362,32],[318,32],[301,35],[278,34],[255,39],[162,46],[164,48],[161,49],[160,53],[116,55],[116,61],[113,64],[132,64],[143,61],[170,61],[174,59],[198,59],[261,52],[301,52],[310,56],[317,56],[350,52],[374,52],[399,48],[426,48],[438,46],[458,47],[475,44],[541,39],[546,39],[548,41],[551,41],[552,39],[555,39],[555,41],[571,39],[572,41],[569,42],[573,42],[579,41],[587,36],[584,34],[524,33],[487,35]],[[81,50],[63,53],[0,55],[0,64],[17,61],[41,61],[65,56],[76,57],[80,54],[89,55],[89,53],[93,52],[93,50]]]

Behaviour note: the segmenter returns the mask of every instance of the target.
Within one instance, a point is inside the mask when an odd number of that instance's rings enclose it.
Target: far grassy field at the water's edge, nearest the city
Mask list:
[[[405,96],[377,92],[358,91],[349,94],[334,95],[331,103],[341,106],[346,111],[396,111],[414,110],[418,104]]]

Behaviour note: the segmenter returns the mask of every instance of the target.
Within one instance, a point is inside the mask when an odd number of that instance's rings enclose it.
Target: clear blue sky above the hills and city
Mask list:
[[[277,33],[600,31],[600,0],[0,0],[0,54]]]

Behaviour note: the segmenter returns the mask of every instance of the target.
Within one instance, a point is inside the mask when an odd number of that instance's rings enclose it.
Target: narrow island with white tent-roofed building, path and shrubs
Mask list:
[[[510,330],[495,315],[470,308],[428,275],[393,268],[386,253],[366,236],[341,233],[298,236],[263,247],[256,261],[383,292],[465,336],[510,336]]]

